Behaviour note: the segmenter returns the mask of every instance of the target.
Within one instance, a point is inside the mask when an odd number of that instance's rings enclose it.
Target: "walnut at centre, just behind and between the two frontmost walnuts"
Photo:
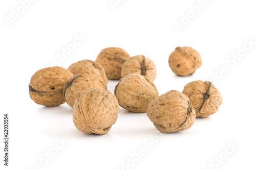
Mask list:
[[[159,96],[155,84],[145,76],[125,76],[115,88],[119,105],[131,112],[145,112],[148,104]]]

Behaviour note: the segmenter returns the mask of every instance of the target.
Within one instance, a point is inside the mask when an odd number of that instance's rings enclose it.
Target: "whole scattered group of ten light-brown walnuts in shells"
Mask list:
[[[179,76],[194,74],[202,65],[200,54],[191,47],[177,47],[169,66]],[[68,69],[54,66],[35,72],[29,84],[31,99],[40,105],[73,108],[73,122],[84,133],[105,134],[117,120],[119,105],[131,112],[147,112],[161,132],[190,128],[196,117],[218,111],[222,95],[209,81],[188,83],[182,92],[170,90],[159,96],[153,83],[155,63],[145,56],[130,57],[122,48],[103,49],[96,61],[81,60]],[[108,79],[121,79],[114,94]]]

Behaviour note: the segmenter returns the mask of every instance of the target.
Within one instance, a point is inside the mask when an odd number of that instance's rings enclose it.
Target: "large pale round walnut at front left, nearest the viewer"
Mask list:
[[[107,89],[88,89],[77,98],[73,122],[79,131],[103,135],[116,123],[119,106]]]

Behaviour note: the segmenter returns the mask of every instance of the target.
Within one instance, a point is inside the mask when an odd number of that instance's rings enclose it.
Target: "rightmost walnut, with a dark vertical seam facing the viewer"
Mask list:
[[[183,91],[196,110],[197,117],[208,117],[216,113],[222,104],[220,91],[211,82],[202,80],[188,83]]]

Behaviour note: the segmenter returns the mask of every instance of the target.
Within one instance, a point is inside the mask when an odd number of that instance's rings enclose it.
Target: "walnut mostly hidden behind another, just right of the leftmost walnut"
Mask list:
[[[106,78],[106,73],[104,68],[97,62],[91,60],[80,60],[76,63],[73,63],[69,66],[70,70],[74,75],[86,73],[89,75],[95,75],[102,78],[105,86],[108,85],[108,78]]]

